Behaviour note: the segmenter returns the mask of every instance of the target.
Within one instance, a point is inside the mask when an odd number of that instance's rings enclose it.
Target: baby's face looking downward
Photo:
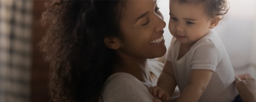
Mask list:
[[[213,18],[205,13],[204,3],[170,0],[169,31],[179,42],[194,43],[210,30]]]

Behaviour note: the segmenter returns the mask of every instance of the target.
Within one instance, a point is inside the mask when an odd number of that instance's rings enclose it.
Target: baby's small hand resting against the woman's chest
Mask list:
[[[171,100],[171,95],[158,86],[150,87],[148,91],[151,93],[151,95],[160,98],[163,102],[169,102]]]

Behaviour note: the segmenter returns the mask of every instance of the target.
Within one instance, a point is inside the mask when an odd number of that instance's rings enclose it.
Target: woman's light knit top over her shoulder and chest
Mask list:
[[[148,61],[149,71],[158,78],[161,74],[163,63]],[[154,98],[148,87],[156,86],[141,82],[128,73],[114,73],[109,76],[102,87],[104,102],[152,102]],[[103,102],[103,101],[99,101]]]

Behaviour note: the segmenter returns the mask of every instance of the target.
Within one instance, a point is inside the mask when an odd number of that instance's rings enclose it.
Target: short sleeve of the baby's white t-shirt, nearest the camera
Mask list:
[[[216,70],[221,59],[220,51],[211,41],[205,41],[197,46],[191,60],[191,69]]]

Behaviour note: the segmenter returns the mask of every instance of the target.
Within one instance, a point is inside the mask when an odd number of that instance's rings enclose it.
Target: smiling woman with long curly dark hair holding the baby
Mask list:
[[[53,5],[52,5],[53,4]],[[41,42],[52,101],[150,102],[163,64],[165,22],[156,0],[47,2]],[[132,83],[132,84],[131,84]]]

